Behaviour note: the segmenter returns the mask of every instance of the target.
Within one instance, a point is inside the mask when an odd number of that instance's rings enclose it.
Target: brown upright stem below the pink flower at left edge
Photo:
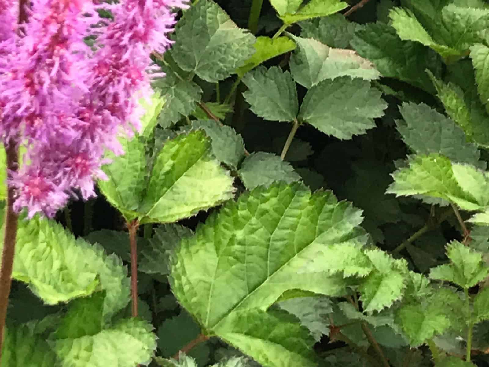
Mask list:
[[[12,172],[16,171],[18,167],[19,156],[17,148],[17,142],[15,141],[15,139],[10,139],[9,142],[5,145],[7,163],[6,170],[8,178],[12,176]],[[5,222],[3,233],[3,251],[1,256],[0,268],[0,365],[5,321],[7,320],[8,296],[10,295],[10,288],[12,286],[15,239],[17,236],[17,223],[19,220],[19,216],[13,208],[14,194],[14,187],[12,185],[8,185],[7,205],[5,207]]]

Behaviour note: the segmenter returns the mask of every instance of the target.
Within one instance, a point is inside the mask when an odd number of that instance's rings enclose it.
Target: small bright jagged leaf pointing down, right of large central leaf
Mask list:
[[[407,262],[395,260],[380,250],[365,251],[374,270],[362,279],[360,299],[364,312],[381,311],[399,300],[406,288]]]

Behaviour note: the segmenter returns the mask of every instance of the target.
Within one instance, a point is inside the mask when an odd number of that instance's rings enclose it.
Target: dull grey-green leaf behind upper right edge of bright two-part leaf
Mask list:
[[[192,121],[192,127],[203,129],[212,139],[212,153],[222,163],[236,169],[244,158],[244,141],[230,126],[221,126],[213,120]]]

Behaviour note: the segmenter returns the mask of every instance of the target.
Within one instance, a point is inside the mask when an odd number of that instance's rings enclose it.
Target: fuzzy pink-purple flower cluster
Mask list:
[[[70,197],[94,196],[105,151],[139,128],[137,100],[151,93],[150,53],[163,53],[186,0],[0,0],[0,139],[26,147],[8,184],[17,211],[53,216]],[[113,21],[99,19],[109,9]],[[97,27],[93,27],[97,24]],[[100,26],[102,24],[102,26]],[[84,38],[97,34],[96,50]]]

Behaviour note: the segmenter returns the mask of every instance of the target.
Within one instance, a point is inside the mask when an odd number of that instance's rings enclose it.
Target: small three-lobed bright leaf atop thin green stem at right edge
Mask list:
[[[450,264],[432,268],[429,275],[431,279],[447,280],[468,289],[488,275],[489,268],[482,260],[481,253],[474,252],[458,241],[446,246],[446,255]]]

